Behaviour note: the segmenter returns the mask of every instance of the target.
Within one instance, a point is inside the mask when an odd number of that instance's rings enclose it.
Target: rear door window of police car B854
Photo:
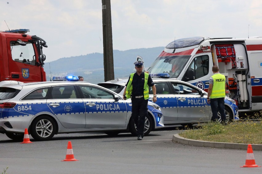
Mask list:
[[[52,99],[76,99],[76,91],[73,85],[54,86],[51,92]]]

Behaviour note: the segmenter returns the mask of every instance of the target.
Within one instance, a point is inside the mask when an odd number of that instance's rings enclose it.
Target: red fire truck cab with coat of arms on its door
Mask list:
[[[29,29],[0,31],[0,81],[46,81],[46,42],[26,32]]]

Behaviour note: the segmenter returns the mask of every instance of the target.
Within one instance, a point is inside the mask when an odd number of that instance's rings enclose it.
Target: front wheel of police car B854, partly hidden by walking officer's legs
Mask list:
[[[144,129],[144,136],[147,136],[153,127],[153,120],[151,116],[147,115],[145,117],[145,129]],[[129,120],[129,131],[132,135],[137,136],[137,126],[134,123],[134,120],[130,118]]]

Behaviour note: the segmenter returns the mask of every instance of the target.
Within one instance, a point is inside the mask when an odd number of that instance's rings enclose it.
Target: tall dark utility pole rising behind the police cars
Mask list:
[[[105,81],[114,80],[113,39],[110,0],[102,0]]]

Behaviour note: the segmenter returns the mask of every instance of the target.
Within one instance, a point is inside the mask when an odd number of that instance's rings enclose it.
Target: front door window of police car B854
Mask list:
[[[97,99],[114,99],[113,94],[95,86],[79,85],[84,98],[97,98]]]

